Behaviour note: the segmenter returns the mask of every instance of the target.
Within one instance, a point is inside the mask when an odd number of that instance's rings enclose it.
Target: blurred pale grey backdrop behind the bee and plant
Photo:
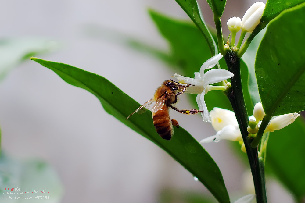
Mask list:
[[[205,1],[199,4],[206,22],[212,24],[210,7]],[[228,0],[221,18],[224,32],[228,18],[241,18],[252,4],[250,0]],[[173,72],[163,62],[120,43],[88,36],[86,26],[116,30],[167,50],[148,8],[188,19],[174,0],[1,1],[0,36],[59,41],[59,51],[38,56],[102,75],[144,103]],[[27,60],[11,71],[1,82],[0,94],[2,149],[16,158],[49,162],[65,188],[64,203],[153,203],[159,201],[164,188],[210,196],[166,152],[107,114],[94,95],[67,84],[34,61]],[[186,97],[177,106],[191,107]],[[198,141],[215,134],[199,115],[170,114]],[[221,141],[204,148],[221,169],[233,202],[251,188],[244,183],[248,167],[228,144]],[[267,179],[267,184],[269,202],[293,202],[276,180]]]

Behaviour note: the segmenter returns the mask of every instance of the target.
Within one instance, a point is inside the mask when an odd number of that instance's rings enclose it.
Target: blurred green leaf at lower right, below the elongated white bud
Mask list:
[[[300,116],[289,126],[270,133],[267,146],[267,169],[271,169],[296,199],[305,196],[304,134],[305,122]]]

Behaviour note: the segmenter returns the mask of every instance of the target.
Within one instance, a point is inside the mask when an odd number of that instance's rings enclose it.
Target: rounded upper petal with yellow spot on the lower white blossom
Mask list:
[[[221,109],[214,107],[210,112],[211,123],[215,131],[219,131],[224,128],[224,126],[238,126],[238,122],[233,111],[227,109]]]

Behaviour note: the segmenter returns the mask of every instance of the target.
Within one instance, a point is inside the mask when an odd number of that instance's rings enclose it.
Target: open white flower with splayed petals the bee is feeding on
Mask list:
[[[233,77],[234,74],[225,69],[212,69],[204,73],[204,70],[207,68],[213,68],[217,62],[222,58],[221,54],[217,54],[212,58],[208,59],[204,62],[199,70],[199,72],[195,72],[195,77],[184,77],[177,73],[174,74],[174,77],[179,80],[180,83],[183,84],[191,84],[186,89],[186,93],[190,94],[198,94],[196,97],[196,101],[201,112],[202,118],[204,122],[210,120],[210,113],[206,107],[206,103],[204,102],[204,95],[211,89],[210,84],[218,83],[223,80],[227,80],[230,77]]]

